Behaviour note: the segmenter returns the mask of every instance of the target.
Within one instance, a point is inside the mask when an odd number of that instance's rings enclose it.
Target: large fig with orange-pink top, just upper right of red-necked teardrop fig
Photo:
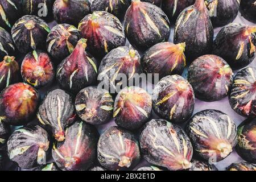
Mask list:
[[[112,49],[125,46],[126,38],[122,24],[106,11],[94,11],[79,23],[83,38],[88,40],[88,51],[102,59]]]

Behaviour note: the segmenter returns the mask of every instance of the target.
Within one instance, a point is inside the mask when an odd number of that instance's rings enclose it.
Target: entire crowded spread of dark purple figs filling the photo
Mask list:
[[[138,171],[216,171],[236,150],[245,162],[226,169],[255,171],[256,26],[232,23],[238,11],[256,23],[255,0],[0,1],[0,169],[131,170],[143,158]],[[125,85],[141,73],[160,78],[152,94]],[[220,110],[193,115],[196,98],[226,96],[246,117],[238,127]]]

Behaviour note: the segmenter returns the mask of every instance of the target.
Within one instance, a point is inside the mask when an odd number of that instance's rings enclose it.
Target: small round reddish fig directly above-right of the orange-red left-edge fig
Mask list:
[[[50,85],[55,77],[51,57],[40,50],[27,53],[20,71],[23,80],[35,88]]]

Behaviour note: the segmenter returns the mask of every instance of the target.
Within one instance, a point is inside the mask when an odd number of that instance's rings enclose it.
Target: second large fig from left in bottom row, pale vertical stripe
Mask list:
[[[84,171],[97,156],[98,131],[85,122],[75,122],[66,131],[64,142],[53,144],[52,157],[64,171]]]

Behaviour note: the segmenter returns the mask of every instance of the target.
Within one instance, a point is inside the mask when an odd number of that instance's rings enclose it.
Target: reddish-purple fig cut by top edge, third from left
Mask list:
[[[57,23],[77,26],[84,16],[90,13],[88,0],[56,0],[53,4],[53,16]]]

